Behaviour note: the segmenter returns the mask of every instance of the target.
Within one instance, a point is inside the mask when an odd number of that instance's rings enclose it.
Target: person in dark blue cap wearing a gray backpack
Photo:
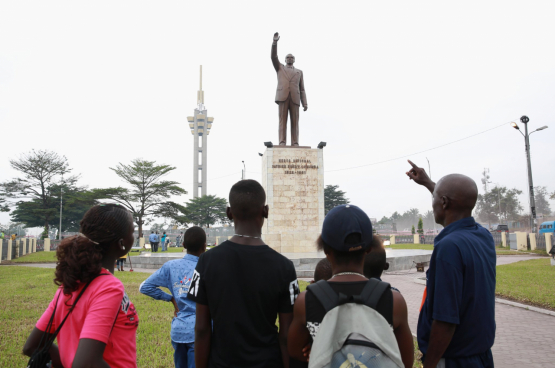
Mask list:
[[[412,367],[414,343],[403,296],[363,275],[371,245],[372,223],[360,208],[341,205],[326,215],[317,247],[330,261],[333,277],[298,296],[287,341],[289,355],[308,361],[309,368]]]

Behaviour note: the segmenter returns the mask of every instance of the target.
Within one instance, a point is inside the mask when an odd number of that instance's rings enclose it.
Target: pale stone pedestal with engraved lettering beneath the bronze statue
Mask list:
[[[262,186],[270,207],[262,238],[280,253],[316,253],[324,222],[324,155],[310,147],[267,148]]]

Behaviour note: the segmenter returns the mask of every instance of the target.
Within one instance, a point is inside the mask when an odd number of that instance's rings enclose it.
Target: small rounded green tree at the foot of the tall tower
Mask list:
[[[210,227],[215,223],[228,222],[227,201],[215,195],[204,195],[189,200],[187,203],[188,222],[198,226]]]

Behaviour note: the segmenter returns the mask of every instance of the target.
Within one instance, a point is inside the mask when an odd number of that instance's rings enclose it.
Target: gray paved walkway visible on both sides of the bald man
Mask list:
[[[497,264],[509,264],[539,257],[499,256]],[[383,280],[398,288],[405,298],[409,310],[409,325],[416,333],[418,310],[422,302],[424,285],[414,282],[424,277],[423,273],[411,270],[409,273],[392,272]],[[523,308],[501,303],[495,304],[497,330],[493,345],[493,359],[496,367],[554,367],[555,317],[532,312]]]

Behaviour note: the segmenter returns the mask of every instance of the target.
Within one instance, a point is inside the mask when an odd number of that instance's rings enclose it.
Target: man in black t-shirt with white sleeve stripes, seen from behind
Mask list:
[[[287,333],[299,285],[293,263],[261,239],[265,203],[258,182],[236,183],[227,208],[236,234],[198,261],[188,293],[197,302],[197,368],[288,367]]]

